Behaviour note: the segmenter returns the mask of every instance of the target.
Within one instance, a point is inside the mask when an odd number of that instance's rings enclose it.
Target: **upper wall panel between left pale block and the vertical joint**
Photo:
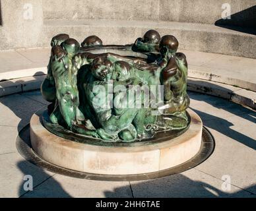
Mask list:
[[[158,20],[160,0],[44,0],[45,20]]]

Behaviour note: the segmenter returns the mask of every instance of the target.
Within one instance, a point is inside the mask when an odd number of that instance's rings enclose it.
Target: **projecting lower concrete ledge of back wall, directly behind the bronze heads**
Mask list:
[[[55,34],[66,32],[80,42],[89,35],[102,38],[104,44],[131,44],[148,29],[160,35],[172,34],[179,49],[256,58],[256,36],[210,24],[185,22],[146,22],[126,20],[47,20],[42,45],[49,45]]]

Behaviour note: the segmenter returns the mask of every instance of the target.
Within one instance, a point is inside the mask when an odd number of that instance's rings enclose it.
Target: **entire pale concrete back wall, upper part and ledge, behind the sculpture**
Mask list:
[[[239,25],[248,18],[241,11],[250,9],[250,14],[256,0],[0,0],[0,49],[48,47],[51,37],[61,32],[80,42],[97,34],[104,44],[127,44],[154,28],[177,36],[184,49],[256,57],[255,36],[214,28],[222,3],[230,3],[236,14],[230,24]],[[32,5],[31,20],[26,4]]]

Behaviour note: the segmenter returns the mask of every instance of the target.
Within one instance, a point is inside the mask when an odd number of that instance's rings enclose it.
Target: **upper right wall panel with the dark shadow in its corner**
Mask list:
[[[247,21],[246,15],[251,15],[251,20],[256,20],[255,0],[162,0],[160,3],[160,20],[178,22],[198,22],[203,24],[214,24],[222,19],[222,5],[230,4],[230,12],[236,14],[236,18],[230,23],[241,25]],[[249,11],[245,9],[251,8]],[[254,11],[254,13],[253,13]],[[256,22],[247,22],[250,26],[255,26]]]

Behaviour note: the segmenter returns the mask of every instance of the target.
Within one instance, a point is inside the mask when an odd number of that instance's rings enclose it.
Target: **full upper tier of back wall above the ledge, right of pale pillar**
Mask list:
[[[230,5],[231,19],[221,20]],[[44,20],[152,20],[255,26],[255,0],[43,1]],[[51,7],[49,7],[51,5]],[[223,9],[222,9],[223,7]],[[209,13],[210,11],[210,13]]]

